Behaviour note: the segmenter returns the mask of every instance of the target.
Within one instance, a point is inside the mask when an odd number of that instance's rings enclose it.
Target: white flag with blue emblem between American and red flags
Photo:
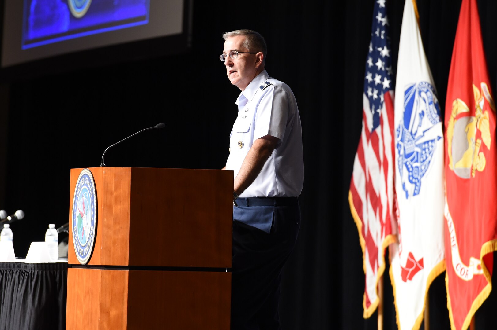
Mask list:
[[[398,240],[390,277],[399,329],[419,329],[429,285],[445,269],[444,142],[415,0],[404,5],[394,108]]]

